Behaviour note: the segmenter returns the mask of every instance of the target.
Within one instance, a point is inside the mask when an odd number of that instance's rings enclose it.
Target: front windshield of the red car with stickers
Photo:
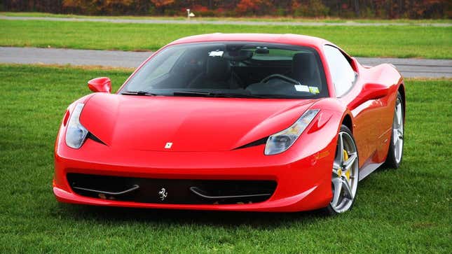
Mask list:
[[[189,97],[327,97],[313,48],[275,43],[187,43],[151,57],[120,91]]]

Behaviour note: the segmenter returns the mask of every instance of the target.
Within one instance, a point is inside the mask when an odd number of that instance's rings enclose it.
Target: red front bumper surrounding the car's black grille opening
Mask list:
[[[224,152],[156,152],[119,150],[88,139],[79,150],[57,139],[53,192],[60,202],[154,209],[305,211],[331,200],[331,165],[335,143],[319,151],[291,148],[263,155],[263,146]],[[306,153],[310,155],[306,155]],[[275,181],[273,195],[252,204],[165,204],[86,197],[71,188],[67,174],[95,174],[152,179]],[[158,195],[158,193],[155,193]]]

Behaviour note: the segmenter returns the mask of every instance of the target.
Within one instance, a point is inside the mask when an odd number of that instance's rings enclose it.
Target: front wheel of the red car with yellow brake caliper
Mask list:
[[[336,156],[331,174],[331,192],[333,197],[325,208],[334,215],[352,208],[358,188],[358,153],[352,132],[345,125],[338,133]]]

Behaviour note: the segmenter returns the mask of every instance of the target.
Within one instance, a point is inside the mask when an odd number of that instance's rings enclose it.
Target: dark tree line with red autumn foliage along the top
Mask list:
[[[3,0],[3,11],[83,15],[451,18],[451,0]]]

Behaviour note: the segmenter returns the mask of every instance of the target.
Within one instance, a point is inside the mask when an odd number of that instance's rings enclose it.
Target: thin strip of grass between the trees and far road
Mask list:
[[[196,11],[195,11],[196,13]],[[185,14],[181,12],[181,14]],[[0,15],[8,17],[71,17],[71,18],[121,18],[121,19],[146,19],[146,20],[186,20],[185,16],[167,17],[167,16],[89,16],[89,15],[74,15],[74,14],[53,14],[53,13],[13,13],[13,12],[0,12]],[[396,20],[381,20],[381,19],[341,19],[337,17],[327,18],[305,18],[305,17],[193,17],[193,20],[230,20],[230,21],[257,21],[257,22],[327,22],[327,23],[344,23],[344,22],[358,22],[358,23],[406,23],[406,24],[435,24],[435,23],[451,23],[450,19],[436,19],[436,20],[409,20],[409,19],[396,19]]]

